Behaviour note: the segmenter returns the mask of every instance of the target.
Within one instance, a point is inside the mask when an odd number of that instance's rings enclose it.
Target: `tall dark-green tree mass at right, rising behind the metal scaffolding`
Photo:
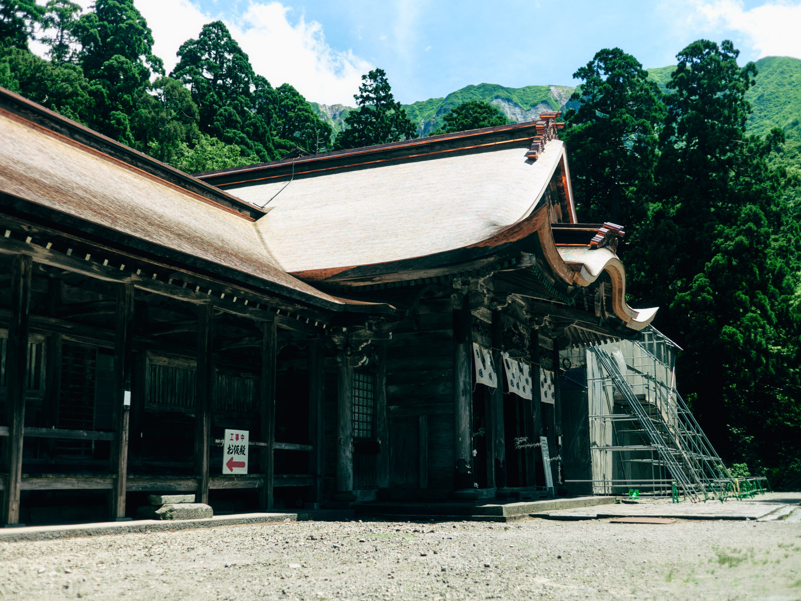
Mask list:
[[[713,443],[751,469],[801,450],[794,183],[775,156],[784,135],[747,135],[757,67],[731,42],[699,40],[666,82],[650,216],[629,254],[631,291],[660,305],[685,352],[680,383]]]

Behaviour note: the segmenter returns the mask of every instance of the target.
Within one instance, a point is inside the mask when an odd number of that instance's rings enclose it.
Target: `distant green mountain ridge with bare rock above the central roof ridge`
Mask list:
[[[431,98],[405,104],[409,119],[417,123],[417,133],[427,135],[444,123],[442,117],[451,109],[469,100],[483,100],[501,109],[511,121],[521,123],[537,119],[541,111],[558,111],[570,99],[574,88],[570,86],[503,87],[494,83],[480,83],[451,92],[445,98]],[[320,119],[331,123],[335,131],[344,127],[344,119],[352,107],[342,104],[310,103]]]

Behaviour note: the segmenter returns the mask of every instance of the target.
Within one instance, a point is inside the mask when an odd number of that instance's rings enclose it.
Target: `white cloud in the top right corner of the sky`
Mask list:
[[[739,31],[760,58],[776,55],[801,58],[801,3],[775,0],[750,10],[740,0],[696,0],[694,4],[706,26]]]

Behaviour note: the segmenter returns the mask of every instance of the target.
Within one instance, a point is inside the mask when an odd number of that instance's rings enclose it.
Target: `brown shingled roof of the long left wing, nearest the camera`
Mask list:
[[[46,111],[18,95],[0,92],[4,100]],[[46,112],[58,124],[80,127]],[[117,232],[125,236],[126,244],[155,244],[205,268],[234,270],[251,284],[325,309],[364,310],[362,305],[372,305],[331,296],[286,273],[262,244],[248,211],[236,210],[240,200],[155,159],[141,155],[158,163],[156,167],[175,171],[194,180],[195,187],[209,188],[212,193],[203,196],[191,186],[184,188],[181,182],[163,179],[2,108],[0,140],[0,194],[4,203],[20,199],[58,212],[62,216],[59,220],[79,220]],[[127,149],[113,140],[102,141]],[[219,202],[227,200],[231,206]]]

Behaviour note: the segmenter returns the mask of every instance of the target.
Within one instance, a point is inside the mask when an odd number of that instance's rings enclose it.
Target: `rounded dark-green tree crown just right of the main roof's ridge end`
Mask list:
[[[579,107],[567,111],[562,138],[574,195],[589,223],[622,224],[626,216],[631,238],[646,216],[642,198],[653,187],[662,94],[637,59],[619,48],[599,51],[573,76],[584,83],[570,97]]]

